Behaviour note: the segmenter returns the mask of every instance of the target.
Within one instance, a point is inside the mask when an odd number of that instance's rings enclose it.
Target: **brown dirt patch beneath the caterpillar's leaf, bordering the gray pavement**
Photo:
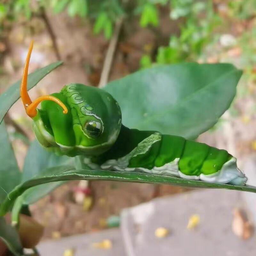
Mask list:
[[[93,205],[85,211],[74,202],[78,181],[68,182],[30,206],[36,220],[45,227],[44,238],[69,236],[102,229],[101,222],[122,209],[147,202],[156,196],[181,193],[188,189],[167,185],[92,181]]]

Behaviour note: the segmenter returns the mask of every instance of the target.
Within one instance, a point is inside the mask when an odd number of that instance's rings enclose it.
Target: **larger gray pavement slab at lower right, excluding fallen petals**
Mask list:
[[[256,237],[241,240],[231,229],[235,207],[246,210],[241,192],[198,190],[160,198],[122,213],[122,234],[127,256],[251,256],[256,255]],[[200,224],[188,230],[188,219],[199,214]],[[157,238],[156,228],[170,229],[170,235]]]

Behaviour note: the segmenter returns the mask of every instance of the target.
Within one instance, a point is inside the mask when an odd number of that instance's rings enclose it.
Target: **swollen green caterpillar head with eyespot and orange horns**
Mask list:
[[[116,141],[121,110],[107,92],[84,84],[68,84],[59,93],[31,101],[27,92],[30,44],[20,85],[26,113],[33,119],[37,140],[58,154],[100,155]],[[41,102],[41,109],[36,107]]]

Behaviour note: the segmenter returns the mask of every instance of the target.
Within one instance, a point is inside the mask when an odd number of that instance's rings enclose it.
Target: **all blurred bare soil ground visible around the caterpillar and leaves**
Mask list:
[[[158,46],[168,44],[171,34],[179,32],[177,23],[170,21],[167,10],[163,8],[160,16],[160,28],[157,33],[148,28],[139,28],[136,20],[131,20],[129,25],[123,27],[109,80],[123,77],[137,70],[142,54],[146,52],[153,55]],[[61,60],[65,63],[30,91],[31,98],[59,91],[64,84],[68,83],[96,86],[100,80],[108,42],[102,36],[92,35],[89,24],[70,19],[66,14],[52,16],[48,13],[48,17]],[[244,24],[236,23],[230,31],[236,36],[241,26],[245,29]],[[54,50],[52,39],[42,21],[33,19],[26,26],[17,24],[9,31],[8,40],[2,43],[5,49],[4,57],[0,60],[4,69],[0,74],[0,92],[20,79],[27,47],[32,37],[35,40],[35,48],[30,72],[57,60],[56,49]],[[218,44],[218,47],[212,47],[210,51],[206,49],[206,56],[208,56],[207,62],[228,61],[243,68],[241,52],[232,47],[226,49]],[[243,88],[245,83],[247,83],[246,80],[242,79],[238,88]],[[199,140],[211,146],[228,149],[236,156],[256,150],[256,144],[253,148],[253,143],[256,141],[255,114],[247,114],[248,109],[251,109],[254,104],[253,97],[247,94],[237,100],[236,106],[240,115],[232,116],[227,113],[222,119],[223,122],[218,124],[219,129],[218,126],[216,130],[204,133]],[[20,101],[15,103],[9,114],[12,119],[22,125],[29,138],[33,139],[30,120],[24,117]],[[10,133],[12,134],[11,129]],[[22,140],[12,138],[19,165],[22,166],[27,146]],[[33,216],[45,226],[44,238],[99,230],[102,228],[100,224],[102,219],[120,214],[123,208],[149,201],[157,196],[184,191],[184,188],[164,185],[93,181],[91,182],[93,207],[91,211],[85,212],[83,206],[76,204],[72,196],[72,189],[77,186],[77,183],[74,181],[61,186],[30,207]]]

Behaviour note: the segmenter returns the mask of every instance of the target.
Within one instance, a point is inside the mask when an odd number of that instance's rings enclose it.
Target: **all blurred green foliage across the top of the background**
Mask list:
[[[170,35],[167,45],[157,45],[152,52],[145,51],[140,59],[141,68],[181,61],[208,61],[207,47],[212,55],[216,52],[215,57],[222,54],[216,45],[221,44],[221,34],[229,31],[230,24],[233,28],[236,23],[247,24],[256,15],[255,0],[2,0],[0,35],[5,25],[17,20],[29,20],[45,9],[55,15],[64,12],[71,18],[88,19],[92,22],[93,33],[102,33],[106,39],[111,38],[113,26],[120,17],[126,18],[124,22],[136,19],[142,28],[151,28],[159,36],[156,27],[160,25],[160,6],[169,8],[170,22],[178,20],[180,32]],[[232,45],[241,51],[239,61],[242,67],[246,67],[244,76],[250,84],[256,81],[255,23],[237,33],[235,45]],[[223,46],[225,51],[230,48],[231,45]],[[252,86],[238,86],[238,97],[246,97],[252,91]]]

